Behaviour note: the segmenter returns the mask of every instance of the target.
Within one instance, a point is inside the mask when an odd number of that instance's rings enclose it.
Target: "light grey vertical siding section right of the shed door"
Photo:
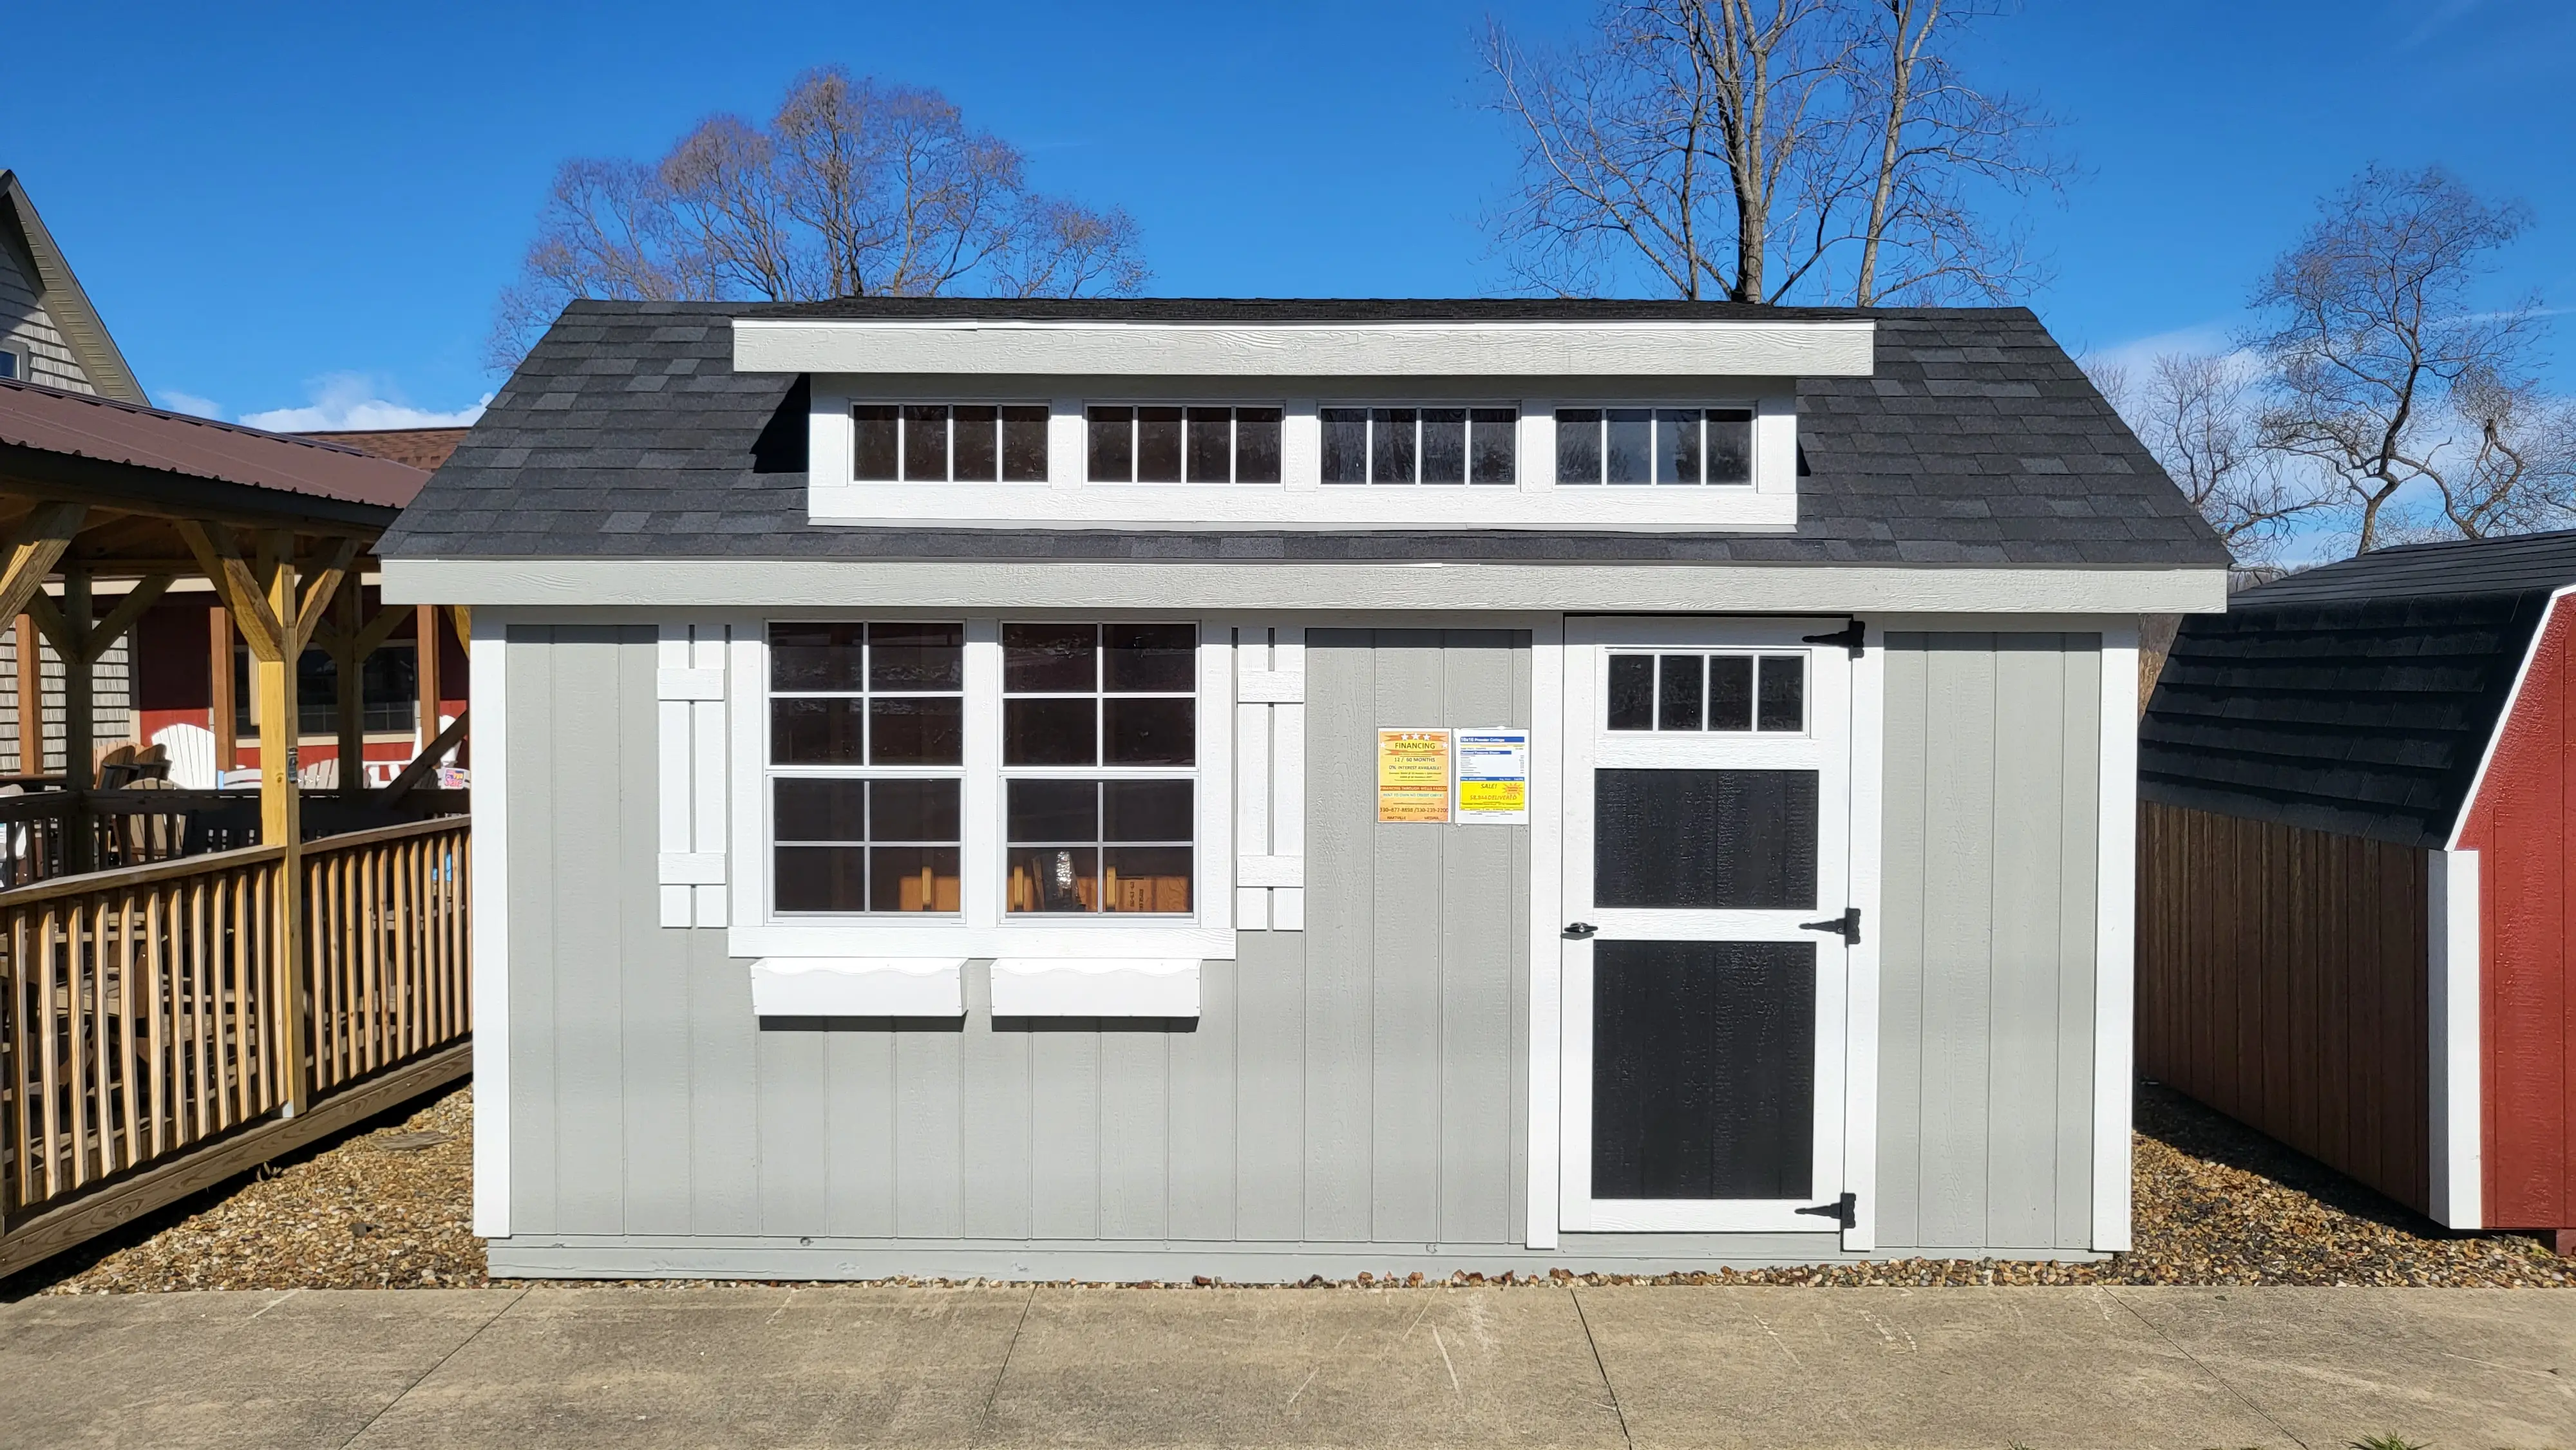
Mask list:
[[[2097,636],[1888,634],[1878,1241],[2092,1223]]]

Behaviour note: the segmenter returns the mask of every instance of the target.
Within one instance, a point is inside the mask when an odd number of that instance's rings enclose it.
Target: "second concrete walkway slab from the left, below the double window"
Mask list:
[[[1025,1288],[531,1288],[353,1445],[963,1445]]]

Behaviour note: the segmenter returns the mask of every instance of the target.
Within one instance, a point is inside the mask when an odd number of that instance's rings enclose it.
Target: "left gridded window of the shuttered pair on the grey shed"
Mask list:
[[[770,901],[958,914],[963,623],[770,626]]]

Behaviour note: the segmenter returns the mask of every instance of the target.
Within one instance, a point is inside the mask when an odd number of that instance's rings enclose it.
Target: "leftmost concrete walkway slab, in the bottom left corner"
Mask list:
[[[0,1445],[348,1445],[520,1290],[0,1303]]]

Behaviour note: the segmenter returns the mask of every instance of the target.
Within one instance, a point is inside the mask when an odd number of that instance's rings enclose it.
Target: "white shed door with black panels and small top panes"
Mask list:
[[[1566,621],[1564,1226],[1842,1229],[1847,621]]]

